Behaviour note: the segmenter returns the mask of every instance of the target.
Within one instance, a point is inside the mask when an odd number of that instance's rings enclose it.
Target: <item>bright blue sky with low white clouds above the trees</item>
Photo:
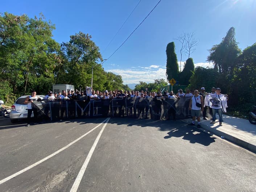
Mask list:
[[[12,0],[1,2],[0,12],[26,14],[32,18],[43,13],[47,21],[55,24],[55,41],[68,42],[75,33],[88,33],[99,47],[103,59],[107,59],[158,2]],[[256,42],[256,0],[161,0],[124,45],[103,63],[103,67],[121,75],[124,84],[166,79],[166,46],[169,42],[175,43],[179,63],[181,44],[176,38],[183,33],[194,33],[199,41],[190,55],[195,67],[212,67],[212,63],[206,62],[208,50],[219,44],[231,27],[235,28],[241,50]],[[183,64],[188,57],[183,54],[182,58]]]

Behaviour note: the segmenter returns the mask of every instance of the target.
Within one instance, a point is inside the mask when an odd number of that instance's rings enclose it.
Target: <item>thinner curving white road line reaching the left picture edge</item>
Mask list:
[[[32,165],[30,165],[30,166],[28,166],[28,167],[26,167],[26,168],[20,170],[20,171],[18,171],[17,173],[15,173],[15,174],[13,174],[13,175],[7,177],[7,178],[4,178],[4,179],[0,180],[0,185],[3,184],[3,183],[6,182],[6,181],[12,179],[12,178],[15,178],[16,176],[18,176],[18,175],[24,173],[25,171],[28,171],[29,169],[31,169],[31,168],[37,166],[38,164],[40,164],[40,163],[46,161],[47,159],[50,159],[50,158],[53,157],[54,155],[57,155],[57,154],[60,153],[61,151],[67,149],[68,147],[70,147],[71,145],[73,145],[75,142],[79,141],[80,139],[82,139],[83,137],[85,137],[86,135],[88,135],[89,133],[91,133],[93,130],[95,130],[95,129],[98,128],[100,125],[102,125],[105,121],[109,121],[109,120],[110,120],[110,118],[106,118],[104,121],[102,121],[102,122],[101,122],[99,125],[97,125],[95,128],[93,128],[93,129],[91,129],[90,131],[88,131],[87,133],[83,134],[83,135],[82,135],[81,137],[79,137],[78,139],[75,139],[73,142],[69,143],[69,144],[66,145],[65,147],[62,147],[61,149],[59,149],[58,151],[54,152],[53,154],[47,156],[46,158],[44,158],[44,159],[42,159],[42,160],[40,160],[40,161],[38,161],[38,162],[36,162],[36,163],[34,163],[34,164],[32,164]]]

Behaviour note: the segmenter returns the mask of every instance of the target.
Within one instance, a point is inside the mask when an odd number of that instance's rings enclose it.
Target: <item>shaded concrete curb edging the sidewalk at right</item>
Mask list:
[[[190,119],[183,119],[181,121],[183,121],[183,122],[185,122],[187,124],[191,122]],[[248,149],[248,150],[252,151],[253,153],[256,153],[256,146],[255,145],[253,145],[251,143],[248,143],[246,141],[243,141],[243,140],[241,140],[239,138],[236,138],[233,135],[221,132],[221,131],[219,131],[217,129],[212,129],[210,126],[204,125],[202,123],[200,123],[200,125],[201,125],[201,128],[203,128],[203,129],[205,129],[205,130],[207,130],[207,131],[209,131],[211,133],[214,133],[215,135],[217,135],[219,137],[223,136],[223,137],[225,137],[225,139],[227,139],[227,140],[229,140],[229,141],[231,141],[231,142],[233,142],[233,143],[235,143],[235,144],[237,144],[237,145],[239,145],[241,147],[244,147],[245,149]]]

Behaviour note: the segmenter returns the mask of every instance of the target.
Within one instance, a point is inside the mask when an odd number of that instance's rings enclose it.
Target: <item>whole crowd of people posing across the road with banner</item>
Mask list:
[[[36,96],[36,91],[26,98],[25,104],[28,104],[28,124],[31,123],[31,114],[37,118],[38,102],[44,103],[45,121],[57,121],[67,118],[82,117],[133,117],[133,118],[156,118],[176,120],[177,112],[179,117],[192,117],[191,125],[195,125],[197,117],[197,127],[200,128],[201,111],[203,119],[207,120],[207,108],[210,109],[212,116],[211,124],[215,123],[216,113],[219,114],[219,124],[222,125],[222,110],[227,107],[227,95],[220,93],[220,88],[212,87],[211,92],[205,92],[202,87],[201,91],[193,92],[186,89],[185,93],[179,89],[176,94],[173,91],[169,93],[148,92],[148,91],[86,91],[70,90],[66,92],[53,93],[41,99]],[[182,101],[181,101],[182,100]],[[65,114],[65,116],[64,116]],[[37,119],[36,119],[37,121]]]

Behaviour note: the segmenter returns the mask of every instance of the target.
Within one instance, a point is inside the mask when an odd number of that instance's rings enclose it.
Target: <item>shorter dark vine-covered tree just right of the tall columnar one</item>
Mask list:
[[[188,85],[189,79],[195,71],[195,66],[192,58],[188,58],[182,72],[179,73],[179,84]]]

